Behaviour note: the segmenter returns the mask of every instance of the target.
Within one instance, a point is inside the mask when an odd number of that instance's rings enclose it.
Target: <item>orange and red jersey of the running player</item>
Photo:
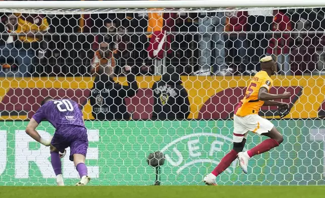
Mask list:
[[[267,75],[265,71],[259,71],[250,81],[243,100],[240,101],[235,109],[236,116],[247,116],[251,114],[258,114],[259,109],[264,104],[264,101],[258,100],[258,91],[264,87],[269,91],[273,86],[273,80]]]

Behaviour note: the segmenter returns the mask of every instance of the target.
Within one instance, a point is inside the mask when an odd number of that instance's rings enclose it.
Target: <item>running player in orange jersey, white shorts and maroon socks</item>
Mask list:
[[[226,170],[230,164],[238,158],[239,165],[244,173],[247,173],[248,161],[255,155],[262,154],[270,149],[279,146],[283,141],[283,136],[278,129],[268,120],[258,116],[261,106],[278,106],[282,109],[289,109],[286,103],[276,102],[273,100],[290,98],[290,92],[282,94],[269,93],[273,80],[270,78],[275,74],[276,63],[270,56],[260,60],[261,71],[259,71],[250,81],[246,89],[243,100],[240,101],[234,112],[234,134],[233,149],[221,160],[215,169],[204,177],[203,181],[207,185],[216,185],[215,178]],[[262,141],[251,150],[242,152],[248,135],[252,131],[259,135],[269,137]]]

